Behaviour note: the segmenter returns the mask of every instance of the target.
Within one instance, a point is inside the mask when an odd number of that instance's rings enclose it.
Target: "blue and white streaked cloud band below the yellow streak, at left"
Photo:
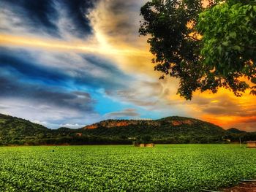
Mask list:
[[[75,84],[89,88],[124,87],[129,76],[93,55],[28,52],[1,48],[2,71],[16,77],[51,85]]]

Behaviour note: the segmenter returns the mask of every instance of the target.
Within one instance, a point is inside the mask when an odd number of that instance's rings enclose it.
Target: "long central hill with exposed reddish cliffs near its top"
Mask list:
[[[184,117],[159,120],[103,120],[82,128],[83,133],[104,137],[138,137],[149,135],[154,140],[221,138],[226,131],[212,123]]]

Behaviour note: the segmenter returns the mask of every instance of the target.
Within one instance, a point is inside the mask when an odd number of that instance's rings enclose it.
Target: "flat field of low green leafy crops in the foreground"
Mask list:
[[[0,191],[202,191],[255,178],[256,150],[239,145],[0,147]]]

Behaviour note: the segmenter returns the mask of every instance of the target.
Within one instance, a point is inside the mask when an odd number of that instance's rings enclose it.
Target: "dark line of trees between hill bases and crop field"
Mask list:
[[[248,140],[256,140],[256,133],[246,133],[244,135],[229,134],[225,137],[162,137],[154,138],[150,135],[146,141],[156,144],[206,144],[206,143],[230,143],[230,142],[246,142]],[[94,135],[62,135],[57,137],[25,137],[25,138],[7,138],[1,139],[0,145],[132,145],[138,141],[138,138],[130,137],[99,137]]]

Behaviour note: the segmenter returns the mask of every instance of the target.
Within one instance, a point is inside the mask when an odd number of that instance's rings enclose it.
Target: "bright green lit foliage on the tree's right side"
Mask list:
[[[240,91],[249,88],[240,77],[255,83],[256,1],[220,1],[200,13],[197,29],[203,35],[203,64],[215,76],[229,78],[229,87],[240,96]],[[255,88],[251,87],[251,93]]]

